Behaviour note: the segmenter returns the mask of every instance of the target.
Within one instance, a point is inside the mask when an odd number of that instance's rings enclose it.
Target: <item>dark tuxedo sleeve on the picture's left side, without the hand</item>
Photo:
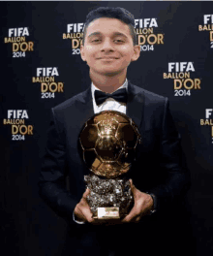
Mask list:
[[[66,145],[59,133],[52,109],[52,120],[47,131],[46,153],[39,178],[39,194],[57,215],[68,223],[73,221],[73,211],[78,203],[66,188]]]

